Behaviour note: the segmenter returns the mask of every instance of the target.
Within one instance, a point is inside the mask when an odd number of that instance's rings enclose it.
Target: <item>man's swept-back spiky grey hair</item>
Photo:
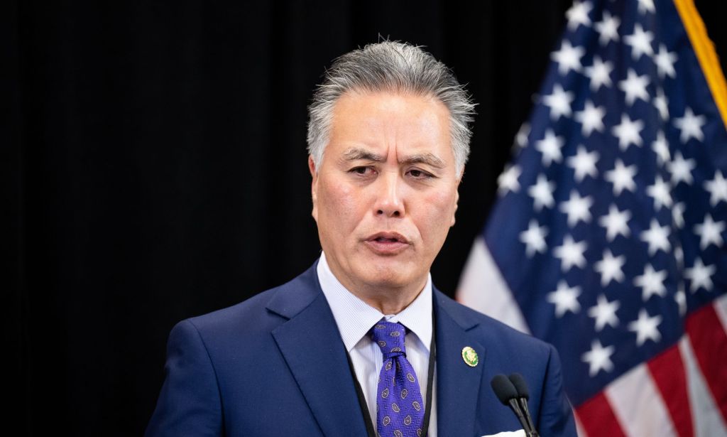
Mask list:
[[[368,44],[334,60],[308,106],[308,153],[316,168],[329,141],[333,108],[346,92],[404,92],[431,96],[449,110],[454,164],[462,172],[470,154],[475,103],[446,65],[417,46],[398,41]]]

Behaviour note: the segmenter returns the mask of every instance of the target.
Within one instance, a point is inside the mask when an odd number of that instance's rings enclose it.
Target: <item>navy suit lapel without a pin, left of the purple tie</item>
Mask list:
[[[273,337],[324,435],[366,436],[345,346],[315,267],[301,276],[297,289],[281,290],[268,304],[290,318]]]

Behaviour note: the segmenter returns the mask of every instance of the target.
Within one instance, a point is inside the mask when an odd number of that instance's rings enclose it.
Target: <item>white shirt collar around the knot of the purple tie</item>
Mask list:
[[[433,305],[431,274],[427,273],[427,284],[414,302],[411,302],[398,314],[385,315],[356,297],[340,283],[331,271],[324,252],[321,252],[321,259],[318,260],[316,270],[318,281],[320,281],[323,294],[331,307],[346,350],[350,352],[356,343],[369,332],[371,326],[382,318],[406,326],[429,350],[432,342]]]

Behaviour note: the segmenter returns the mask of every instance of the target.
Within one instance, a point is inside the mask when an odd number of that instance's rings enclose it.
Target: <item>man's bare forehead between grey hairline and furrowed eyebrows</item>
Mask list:
[[[329,147],[395,148],[453,161],[449,110],[434,97],[397,92],[347,92],[334,105]]]

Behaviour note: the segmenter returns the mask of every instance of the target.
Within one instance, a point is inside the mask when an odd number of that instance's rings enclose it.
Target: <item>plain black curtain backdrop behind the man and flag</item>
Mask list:
[[[454,294],[569,6],[108,3],[0,7],[2,426],[19,435],[139,435],[175,322],[316,259],[305,107],[332,58],[379,35],[427,46],[479,103],[433,266]],[[697,6],[724,53],[718,3]]]

